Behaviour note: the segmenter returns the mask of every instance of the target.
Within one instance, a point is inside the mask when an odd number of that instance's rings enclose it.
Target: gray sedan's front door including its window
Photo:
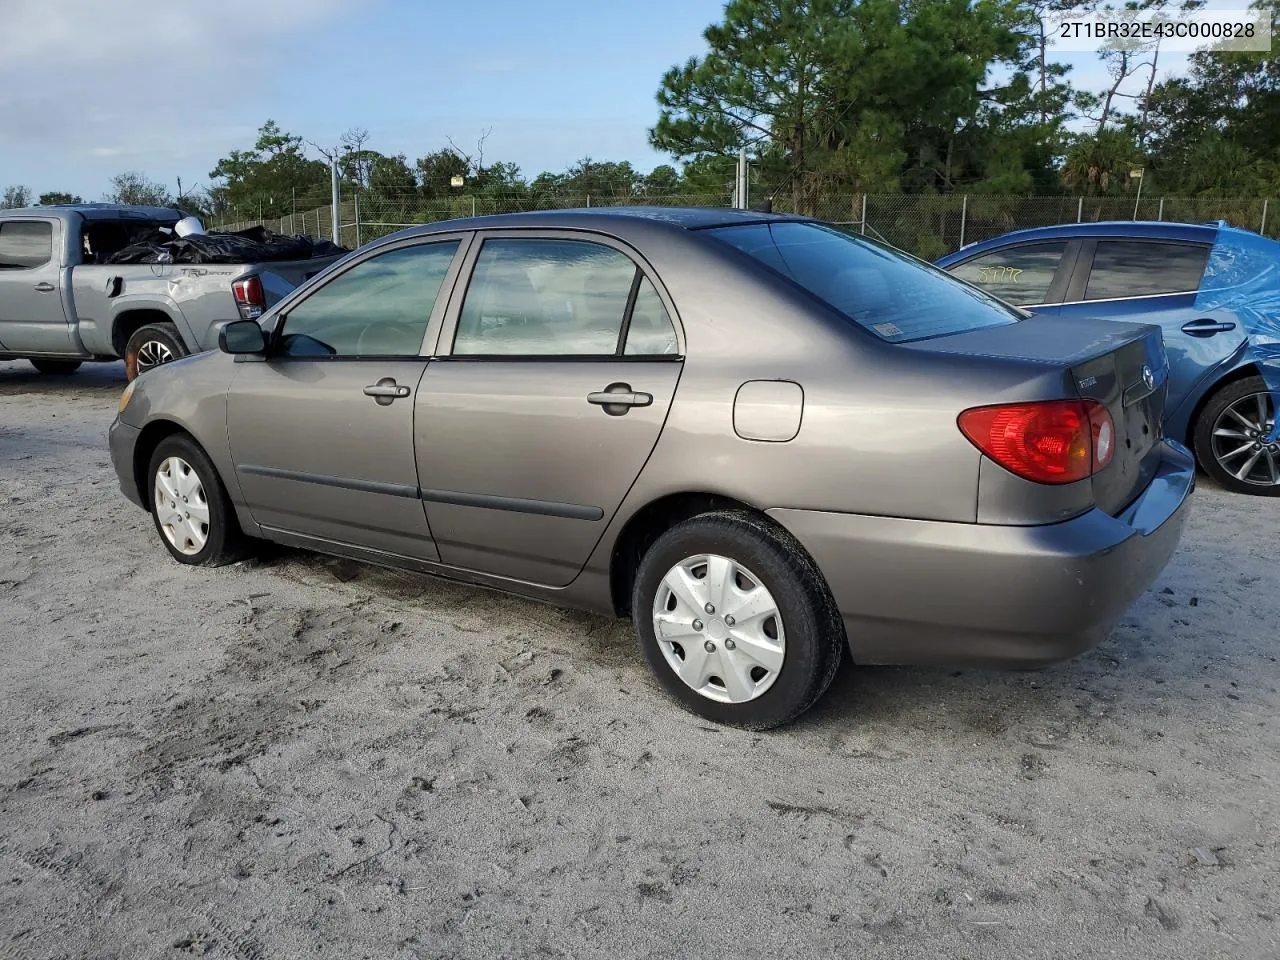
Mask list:
[[[355,261],[296,303],[265,358],[236,365],[236,479],[265,527],[438,559],[419,497],[413,406],[461,238]],[[434,317],[434,321],[433,321]]]

